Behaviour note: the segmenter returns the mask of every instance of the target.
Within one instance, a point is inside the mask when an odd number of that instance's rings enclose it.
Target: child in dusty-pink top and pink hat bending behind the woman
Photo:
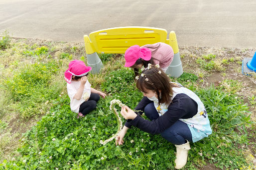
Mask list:
[[[147,44],[139,47],[138,45],[131,46],[125,53],[125,67],[134,68],[134,73],[137,75],[138,68],[145,68],[150,63],[151,65],[159,64],[160,68],[165,72],[170,65],[174,56],[174,52],[168,44],[155,43]]]

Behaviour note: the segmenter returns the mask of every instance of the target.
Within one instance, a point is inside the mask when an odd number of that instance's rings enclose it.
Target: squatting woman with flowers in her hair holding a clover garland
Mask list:
[[[156,67],[149,65],[136,77],[136,87],[144,97],[135,112],[127,106],[122,107],[121,114],[127,122],[116,137],[116,145],[123,145],[123,138],[131,126],[151,134],[160,133],[176,146],[175,168],[181,169],[187,163],[189,142],[207,137],[212,129],[199,97],[180,84],[170,82],[159,65]],[[143,112],[151,121],[140,116]]]

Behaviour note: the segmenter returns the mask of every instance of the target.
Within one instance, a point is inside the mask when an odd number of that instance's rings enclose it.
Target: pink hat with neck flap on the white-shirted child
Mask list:
[[[92,67],[86,66],[84,61],[75,59],[68,64],[68,69],[64,73],[65,80],[68,83],[71,83],[72,75],[83,76],[83,75],[86,75],[91,70],[92,70]]]

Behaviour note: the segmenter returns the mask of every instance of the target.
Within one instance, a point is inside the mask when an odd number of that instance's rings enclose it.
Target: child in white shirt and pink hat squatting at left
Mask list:
[[[78,118],[94,110],[100,96],[106,97],[105,93],[91,87],[87,79],[91,70],[92,68],[86,66],[83,61],[73,60],[64,73],[70,98],[70,108],[71,111],[78,113]]]

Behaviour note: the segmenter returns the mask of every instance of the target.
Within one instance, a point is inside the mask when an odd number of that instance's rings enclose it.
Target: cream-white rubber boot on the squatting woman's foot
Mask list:
[[[187,159],[188,159],[188,150],[190,150],[190,145],[189,142],[187,141],[187,143],[184,143],[182,145],[175,145],[176,146],[176,160],[175,162],[175,167],[176,169],[181,169],[183,168],[186,163],[187,163]]]

